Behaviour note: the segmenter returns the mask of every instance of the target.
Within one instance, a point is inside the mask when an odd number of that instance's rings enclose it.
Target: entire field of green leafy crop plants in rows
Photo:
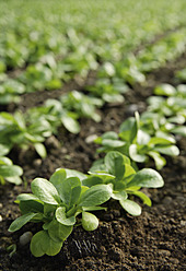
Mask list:
[[[184,1],[156,1],[155,7],[146,0],[7,1],[1,7],[1,185],[22,184],[23,169],[10,158],[15,149],[35,149],[45,160],[45,141],[57,136],[59,128],[78,137],[80,119],[100,122],[98,109],[125,103],[127,92],[136,84],[146,86],[149,73],[181,57],[186,48]],[[94,80],[86,85],[91,72]],[[33,193],[18,197],[22,216],[9,231],[43,222],[31,251],[36,257],[54,256],[77,223],[85,231],[97,228],[98,220],[91,212],[105,210],[100,205],[109,199],[119,201],[130,215],[140,215],[132,197],[151,205],[140,189],[163,186],[156,170],[165,166],[167,156],[179,154],[177,139],[186,137],[185,81],[186,69],[182,69],[174,78],[176,86],[156,85],[147,110],[141,115],[133,110],[118,133],[93,137],[102,145],[97,152],[106,156],[95,161],[89,174],[59,169],[49,181],[34,179]],[[25,94],[62,93],[69,82],[80,91],[72,89],[22,111]],[[4,110],[11,104],[13,110]]]

